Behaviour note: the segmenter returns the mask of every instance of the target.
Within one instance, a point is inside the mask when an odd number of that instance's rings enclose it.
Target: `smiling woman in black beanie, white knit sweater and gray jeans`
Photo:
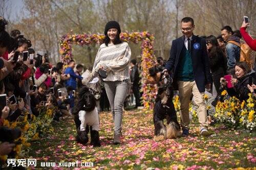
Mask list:
[[[120,40],[120,33],[121,29],[118,22],[109,21],[106,23],[104,43],[99,47],[93,66],[94,74],[102,69],[108,75],[103,81],[115,123],[114,144],[120,143],[122,108],[130,86],[131,49],[127,42]]]

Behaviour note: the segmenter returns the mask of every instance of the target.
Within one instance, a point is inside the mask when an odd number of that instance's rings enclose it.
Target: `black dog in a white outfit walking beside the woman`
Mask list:
[[[78,101],[73,110],[74,121],[77,129],[76,140],[86,144],[89,141],[88,133],[91,133],[91,145],[100,147],[99,141],[99,114],[96,99],[90,88],[83,86],[78,92]],[[90,127],[90,128],[89,128]]]

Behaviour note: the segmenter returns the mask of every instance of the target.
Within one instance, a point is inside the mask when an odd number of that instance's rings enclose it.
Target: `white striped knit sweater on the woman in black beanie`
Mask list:
[[[108,77],[104,81],[123,81],[130,79],[129,63],[131,49],[127,42],[106,46],[100,45],[93,65],[93,72],[97,72],[99,65],[110,68]]]

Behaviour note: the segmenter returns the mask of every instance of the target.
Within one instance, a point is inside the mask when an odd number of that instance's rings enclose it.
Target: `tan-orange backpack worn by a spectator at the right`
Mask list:
[[[249,68],[252,69],[254,67],[254,56],[253,56],[253,51],[247,45],[245,42],[238,43],[236,41],[228,41],[228,43],[232,43],[234,45],[237,45],[240,47],[240,61],[245,61],[248,65]]]

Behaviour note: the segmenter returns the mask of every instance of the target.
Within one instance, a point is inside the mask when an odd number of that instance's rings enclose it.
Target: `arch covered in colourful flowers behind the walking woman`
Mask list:
[[[72,44],[78,45],[90,45],[92,43],[103,43],[104,35],[102,34],[67,34],[60,38],[60,59],[63,63],[67,64],[71,59],[72,55]],[[154,85],[146,84],[146,80],[149,76],[148,68],[154,66],[154,35],[148,32],[123,32],[120,34],[120,39],[126,42],[138,43],[141,41],[141,67],[142,67],[142,79],[141,79],[141,90],[142,101],[144,109],[152,109],[156,97],[156,88]]]

